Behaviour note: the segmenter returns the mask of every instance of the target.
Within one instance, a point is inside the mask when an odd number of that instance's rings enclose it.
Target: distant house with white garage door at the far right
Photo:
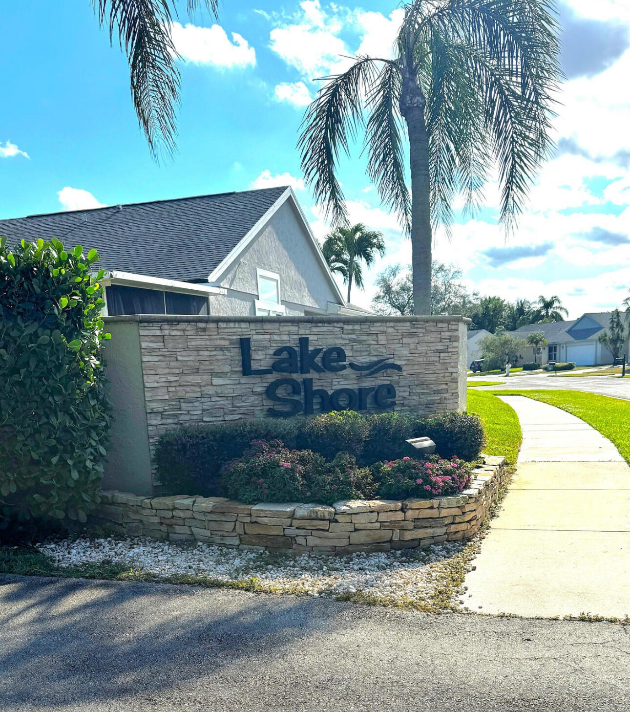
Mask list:
[[[592,312],[583,314],[573,321],[557,321],[548,324],[528,324],[511,335],[527,339],[527,335],[542,331],[547,339],[547,346],[542,347],[538,362],[547,361],[573,362],[578,366],[597,366],[612,363],[611,352],[599,342],[610,323],[610,312]],[[628,341],[624,345],[628,352]],[[533,361],[533,347],[523,352],[523,360]]]

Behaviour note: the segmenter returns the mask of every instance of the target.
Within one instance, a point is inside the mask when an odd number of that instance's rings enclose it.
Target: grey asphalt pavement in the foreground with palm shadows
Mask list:
[[[630,630],[0,576],[3,711],[630,710]]]

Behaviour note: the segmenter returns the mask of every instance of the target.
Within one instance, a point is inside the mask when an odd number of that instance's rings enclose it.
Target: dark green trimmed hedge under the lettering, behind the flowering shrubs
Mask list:
[[[167,491],[224,496],[221,469],[241,458],[252,441],[280,441],[288,450],[311,450],[332,461],[350,453],[357,466],[414,456],[405,441],[429,436],[442,457],[476,459],[485,436],[476,415],[448,413],[426,419],[384,413],[363,417],[352,411],[314,418],[268,419],[182,426],[162,435],[156,451],[157,474]]]

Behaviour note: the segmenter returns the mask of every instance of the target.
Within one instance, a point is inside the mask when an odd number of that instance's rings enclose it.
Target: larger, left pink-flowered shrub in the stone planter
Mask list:
[[[288,450],[278,441],[255,440],[243,457],[224,466],[229,497],[245,502],[314,501],[365,498],[375,491],[369,468],[338,454],[332,462],[311,450]]]

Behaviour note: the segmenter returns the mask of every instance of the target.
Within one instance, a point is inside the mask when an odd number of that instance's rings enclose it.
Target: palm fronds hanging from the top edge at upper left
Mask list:
[[[101,27],[120,41],[130,67],[135,112],[154,157],[172,152],[179,102],[177,50],[171,28],[177,0],[91,0]],[[189,16],[205,6],[217,16],[219,0],[187,0]]]

